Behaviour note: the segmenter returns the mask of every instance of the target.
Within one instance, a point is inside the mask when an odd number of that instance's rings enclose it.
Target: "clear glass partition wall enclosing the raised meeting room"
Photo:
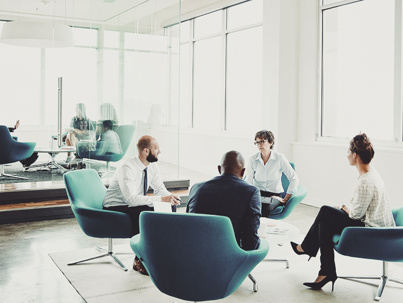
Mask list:
[[[108,14],[101,11],[105,3],[95,2],[72,0],[77,5],[69,10],[66,0],[66,11],[81,17],[67,13],[66,18],[47,19],[73,26],[74,47],[0,43],[0,124],[11,127],[20,120],[13,136],[20,142],[36,142],[39,158],[34,164],[51,162],[54,156],[57,166],[27,169],[50,169],[43,172],[50,180],[62,180],[69,169],[113,172],[122,160],[137,154],[136,142],[143,135],[159,141],[164,179],[178,178],[180,0],[121,1],[117,14],[115,6]],[[83,7],[85,12],[79,10]],[[17,18],[0,14],[0,31],[6,21]],[[59,77],[62,147],[57,144]],[[121,147],[105,144],[105,130],[117,133]],[[76,147],[70,157],[68,146]],[[123,156],[108,156],[119,149]],[[112,172],[104,176],[111,177]]]

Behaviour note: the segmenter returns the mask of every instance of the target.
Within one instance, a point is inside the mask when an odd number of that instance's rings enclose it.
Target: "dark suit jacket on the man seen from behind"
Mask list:
[[[260,191],[256,186],[224,173],[193,185],[186,212],[228,217],[238,245],[244,250],[254,250],[260,245],[257,234],[260,208]]]

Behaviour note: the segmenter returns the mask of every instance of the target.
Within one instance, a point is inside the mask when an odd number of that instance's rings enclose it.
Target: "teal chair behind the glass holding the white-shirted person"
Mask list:
[[[97,151],[95,152],[86,152],[84,151],[83,147],[86,147],[86,142],[78,142],[77,143],[77,152],[78,155],[82,158],[91,158],[95,160],[101,161],[112,161],[116,162],[119,161],[123,156],[126,154],[131,141],[134,137],[134,131],[136,130],[135,125],[121,125],[117,128],[116,134],[119,136],[120,144],[122,146],[122,154],[102,154],[97,155]],[[97,149],[100,147],[101,142],[97,142]]]

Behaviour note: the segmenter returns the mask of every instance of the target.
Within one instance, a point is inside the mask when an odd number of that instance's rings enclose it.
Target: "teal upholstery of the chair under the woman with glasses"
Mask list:
[[[290,162],[290,164],[291,166],[293,166],[295,170],[295,164],[293,162]],[[284,192],[281,194],[281,196],[284,198],[287,194],[287,188],[290,185],[290,182],[288,181],[284,173],[281,176],[281,183],[283,184],[284,188]],[[275,220],[282,220],[284,218],[287,218],[298,206],[298,204],[300,204],[301,201],[306,197],[307,193],[308,190],[305,187],[298,185],[297,192],[291,196],[291,198],[287,201],[286,205],[279,206],[275,210],[273,210],[269,218]]]

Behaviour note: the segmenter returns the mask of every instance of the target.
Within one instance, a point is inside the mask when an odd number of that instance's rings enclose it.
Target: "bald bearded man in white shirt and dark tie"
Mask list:
[[[167,202],[176,211],[181,199],[165,187],[157,161],[161,152],[157,139],[142,136],[137,141],[138,155],[126,159],[116,169],[103,199],[102,208],[128,214],[133,224],[133,236],[140,232],[139,217],[145,210],[154,210],[154,201]],[[147,182],[145,182],[147,181]],[[155,196],[146,196],[150,186]],[[136,256],[133,270],[147,275],[147,270]]]

